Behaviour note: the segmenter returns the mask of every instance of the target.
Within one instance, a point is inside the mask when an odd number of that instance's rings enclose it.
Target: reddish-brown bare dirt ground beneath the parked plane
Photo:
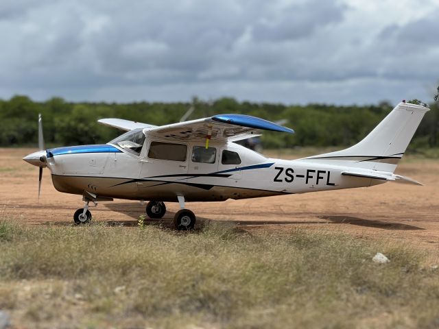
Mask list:
[[[36,150],[0,149],[0,217],[29,224],[71,225],[73,212],[82,208],[82,197],[56,191],[49,170],[45,169],[38,202],[38,168],[21,160],[33,151]],[[425,186],[387,183],[303,195],[194,202],[187,208],[195,212],[199,223],[206,219],[232,221],[255,233],[303,228],[402,241],[427,249],[431,261],[439,262],[439,160],[405,157],[396,173]],[[148,222],[170,227],[178,204],[167,203],[167,209],[162,220]],[[91,212],[93,221],[137,226],[145,205],[115,200],[99,203]]]

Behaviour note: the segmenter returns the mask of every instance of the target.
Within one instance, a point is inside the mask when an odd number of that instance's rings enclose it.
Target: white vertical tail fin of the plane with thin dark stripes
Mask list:
[[[362,141],[348,149],[335,151],[307,159],[321,159],[335,164],[388,171],[393,173],[403,157],[414,132],[429,108],[412,103],[399,103],[387,117]]]

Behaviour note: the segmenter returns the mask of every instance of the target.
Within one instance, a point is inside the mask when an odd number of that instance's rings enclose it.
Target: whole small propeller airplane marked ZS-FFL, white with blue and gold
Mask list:
[[[236,141],[257,130],[294,133],[292,129],[242,114],[163,126],[122,119],[98,122],[125,134],[105,145],[45,149],[41,117],[40,151],[23,160],[51,171],[55,188],[82,195],[84,208],[73,215],[77,224],[91,221],[88,203],[113,198],[150,200],[146,213],[162,218],[164,202],[179,202],[178,230],[191,230],[195,215],[185,202],[224,201],[294,193],[372,186],[388,181],[420,184],[395,175],[407,145],[429,108],[399,103],[366,138],[348,149],[298,160],[265,158]]]

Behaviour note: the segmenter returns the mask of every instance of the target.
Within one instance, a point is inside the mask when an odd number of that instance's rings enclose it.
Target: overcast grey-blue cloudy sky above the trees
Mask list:
[[[0,98],[430,102],[439,0],[1,0]]]

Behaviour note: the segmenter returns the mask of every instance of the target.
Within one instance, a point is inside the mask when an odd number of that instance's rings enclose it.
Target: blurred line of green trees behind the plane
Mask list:
[[[439,93],[439,90],[438,90]],[[393,105],[381,102],[368,106],[334,106],[310,103],[287,106],[280,103],[252,103],[221,98],[215,101],[193,99],[192,103],[72,103],[54,97],[32,101],[17,95],[0,100],[0,146],[37,144],[38,113],[43,114],[45,141],[49,146],[107,143],[122,132],[97,123],[102,118],[119,118],[165,125],[175,123],[190,106],[190,119],[221,113],[241,113],[270,121],[287,120],[285,125],[296,134],[264,132],[266,148],[349,146],[361,140],[381,121]],[[439,146],[439,104],[431,104],[416,131],[412,149]]]

